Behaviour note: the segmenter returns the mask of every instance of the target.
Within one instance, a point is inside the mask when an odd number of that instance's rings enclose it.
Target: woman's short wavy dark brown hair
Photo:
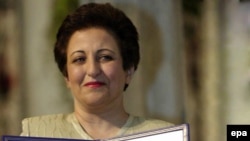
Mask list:
[[[138,32],[131,20],[111,4],[88,3],[66,16],[56,36],[54,57],[59,70],[67,74],[67,46],[72,34],[87,28],[103,28],[116,39],[123,69],[137,69],[140,60]]]

